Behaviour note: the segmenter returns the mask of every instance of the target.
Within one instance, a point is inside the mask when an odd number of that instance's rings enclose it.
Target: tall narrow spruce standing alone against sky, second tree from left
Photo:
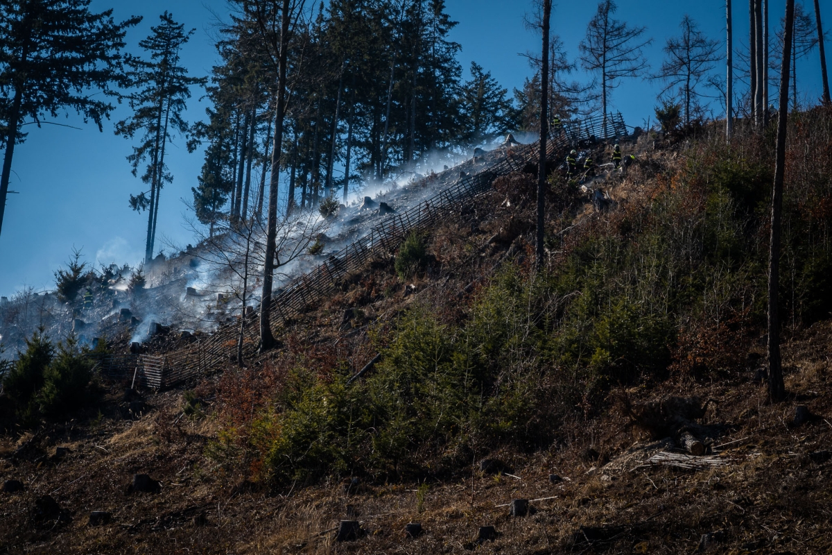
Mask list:
[[[194,30],[185,32],[185,26],[174,21],[168,12],[159,19],[161,23],[151,27],[151,35],[139,42],[150,59],[133,57],[128,61],[131,84],[141,88],[129,97],[132,116],[116,123],[116,135],[133,138],[140,134],[139,146],[134,146],[132,154],[127,156],[133,175],[148,161],[141,181],[151,186],[150,191],[130,196],[133,210],[148,213],[145,244],[148,262],[153,258],[161,189],[166,182],[173,181],[173,176],[165,171],[165,149],[174,132],[185,135],[189,131],[182,111],[191,97],[191,87],[206,82],[201,77],[189,77],[186,68],[179,65],[181,47]]]

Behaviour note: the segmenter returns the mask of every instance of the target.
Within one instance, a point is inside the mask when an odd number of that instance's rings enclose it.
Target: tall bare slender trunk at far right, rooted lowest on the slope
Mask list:
[[[771,236],[769,245],[769,396],[772,401],[785,399],[783,369],[780,365],[780,313],[777,285],[780,280],[780,213],[783,206],[786,121],[789,116],[789,62],[791,37],[795,27],[795,0],[785,2],[785,39],[780,64],[780,111],[777,121],[775,181],[771,188]]]

